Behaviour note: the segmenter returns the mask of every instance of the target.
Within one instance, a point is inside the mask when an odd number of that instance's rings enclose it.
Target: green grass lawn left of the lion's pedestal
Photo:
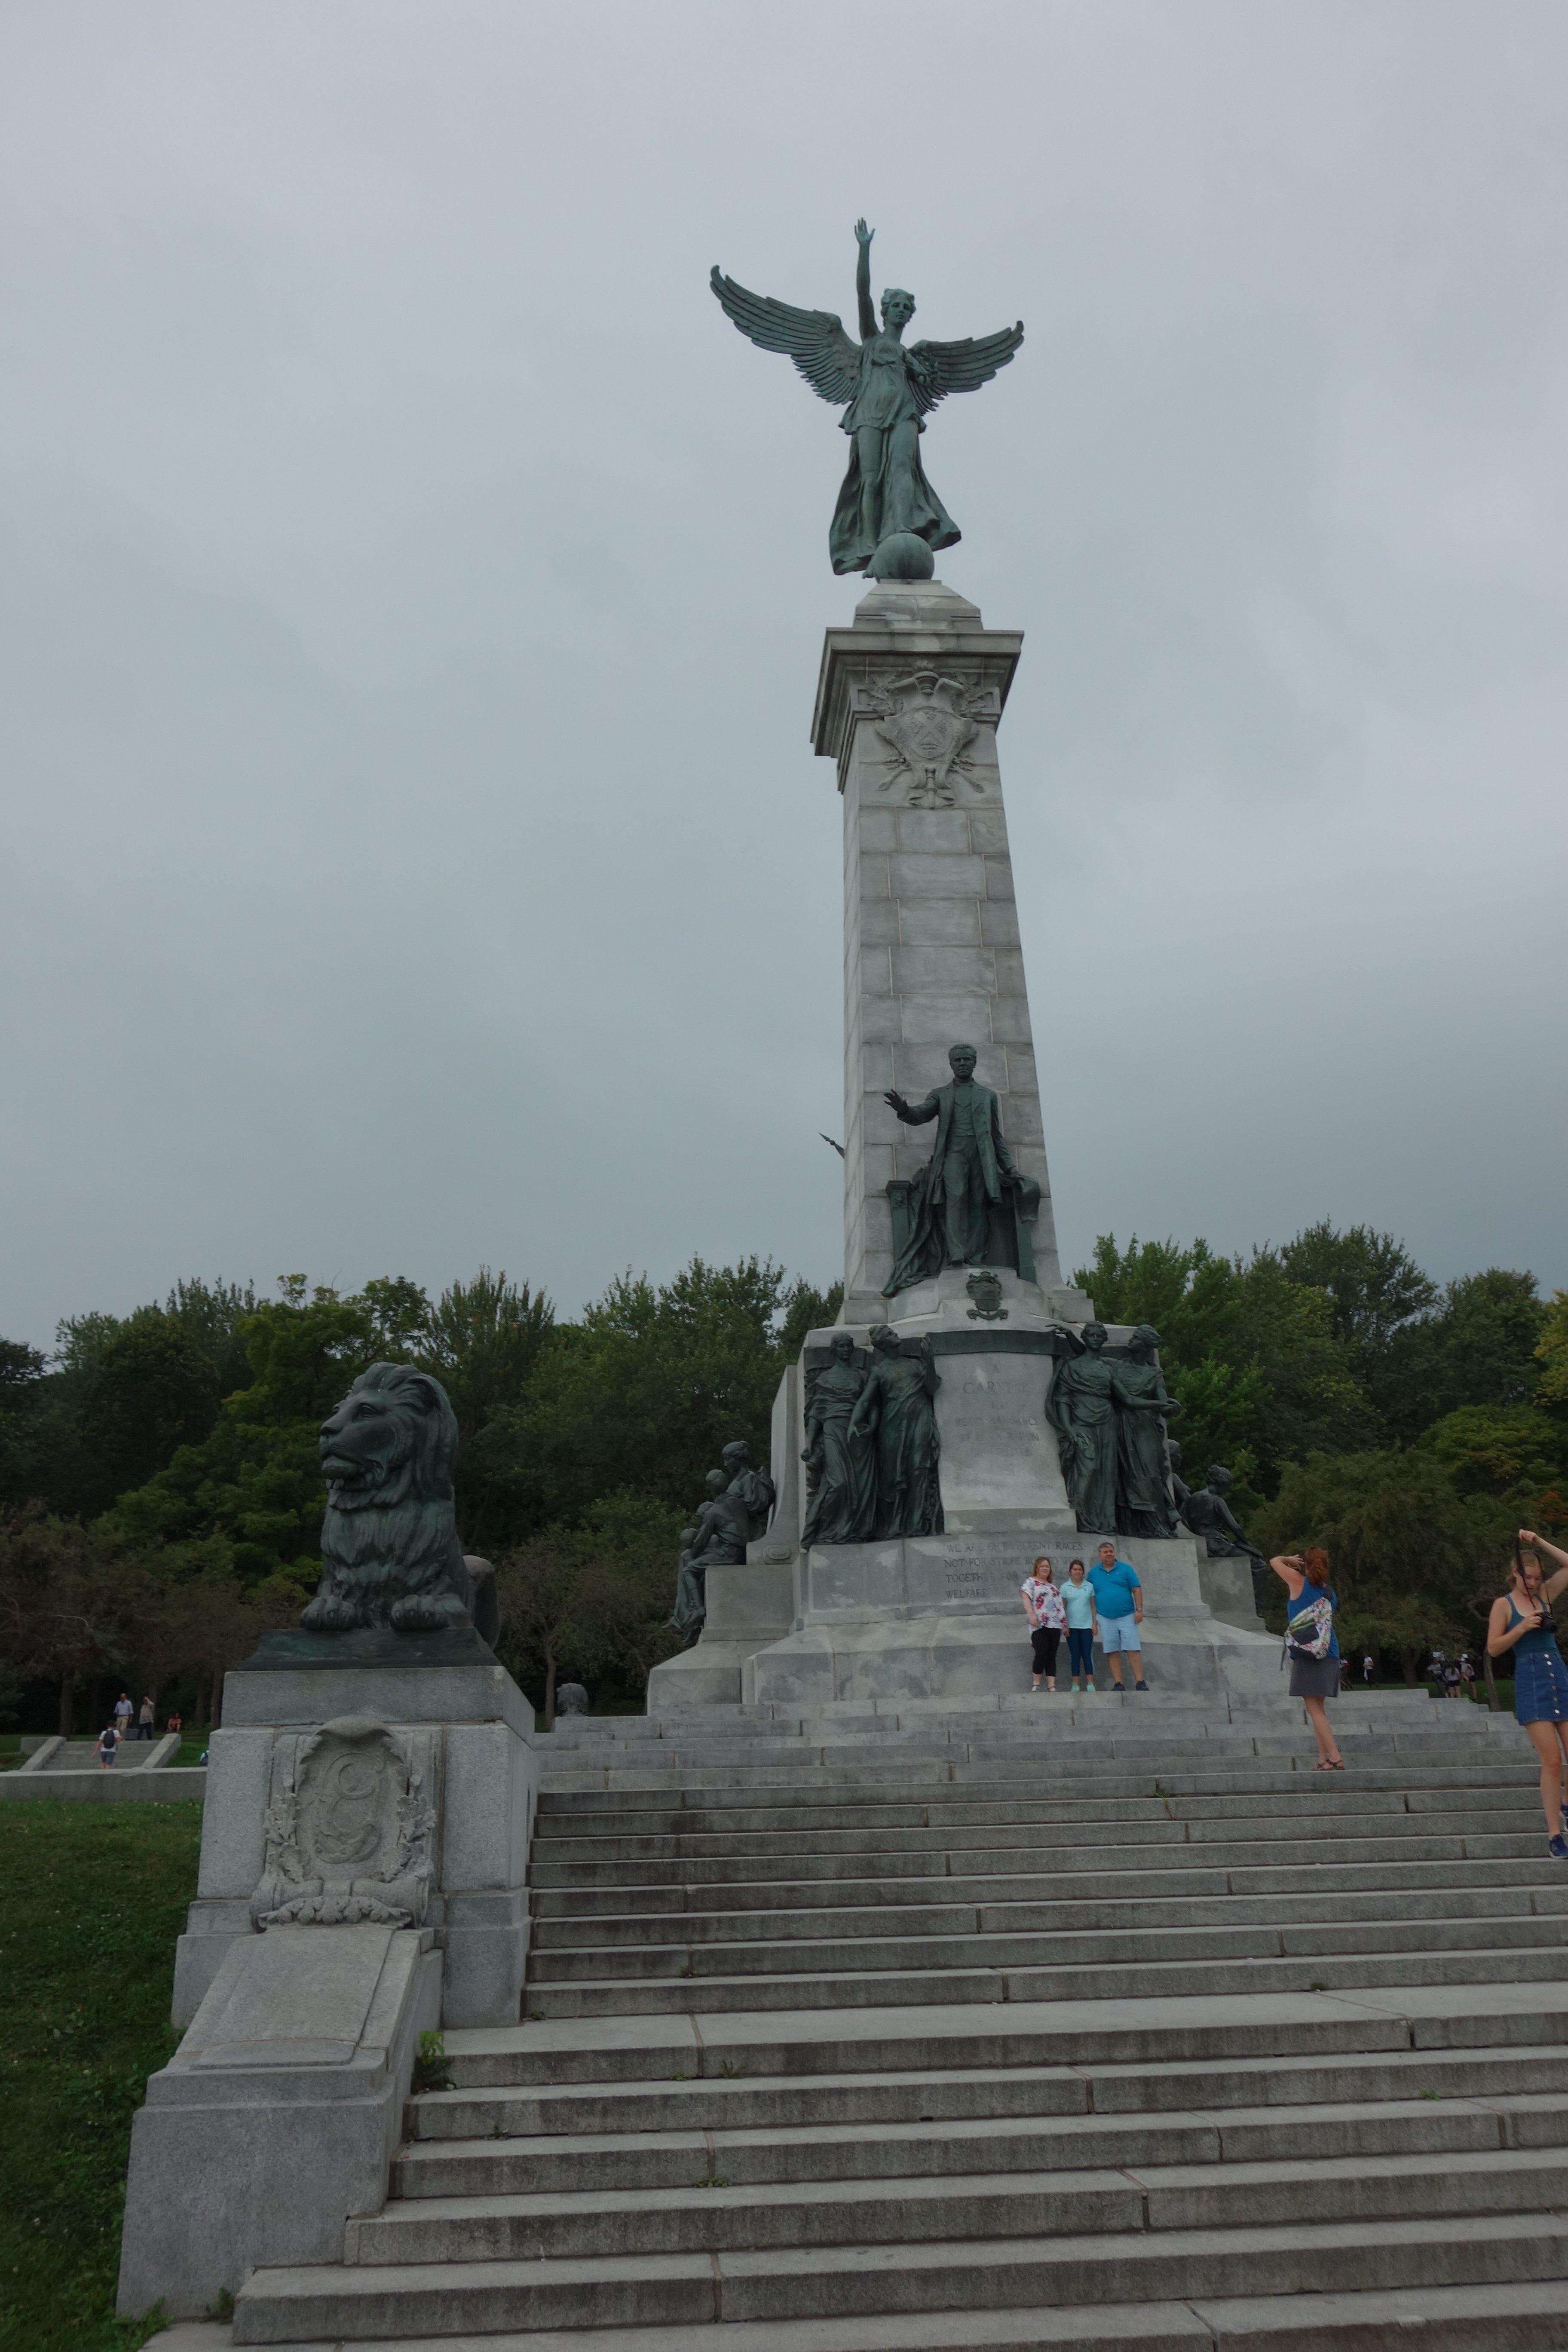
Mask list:
[[[132,2352],[115,2319],[132,2114],[174,2051],[200,1804],[0,1809],[0,2347]]]

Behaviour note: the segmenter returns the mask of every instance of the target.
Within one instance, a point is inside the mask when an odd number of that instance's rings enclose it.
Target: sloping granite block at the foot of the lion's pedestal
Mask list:
[[[270,1929],[228,1950],[132,2126],[125,2317],[190,2319],[256,2265],[343,2260],[348,2216],[386,2204],[440,1992],[430,1931]]]

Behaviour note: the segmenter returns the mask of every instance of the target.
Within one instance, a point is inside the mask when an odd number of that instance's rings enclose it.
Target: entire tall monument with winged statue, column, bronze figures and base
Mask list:
[[[917,435],[1023,327],[905,346],[914,306],[891,289],[877,327],[856,235],[858,343],[712,280],[755,343],[849,402],[830,550],[875,581],[827,630],[811,720],[844,821],[844,1305],[778,1390],[773,1519],[708,1569],[701,1639],[654,1670],[649,1708],[1027,1691],[1018,1585],[1088,1534],[1138,1566],[1152,1691],[1272,1700],[1251,1590],[1175,1512],[1159,1334],[1063,1282],[997,760],[1023,637],[931,576],[957,529]]]

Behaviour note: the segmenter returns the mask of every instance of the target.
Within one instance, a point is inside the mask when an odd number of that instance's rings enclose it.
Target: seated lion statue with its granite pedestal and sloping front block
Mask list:
[[[386,2197],[418,2034],[517,2023],[534,1708],[458,1543],[456,1435],[409,1364],[350,1385],[320,1430],[320,1590],[226,1677],[174,1962],[188,2032],[132,2129],[127,2314],[339,2260]]]

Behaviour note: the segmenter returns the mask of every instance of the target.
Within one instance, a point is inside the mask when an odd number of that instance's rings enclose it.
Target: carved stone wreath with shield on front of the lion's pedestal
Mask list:
[[[430,1773],[430,1731],[341,1715],[301,1738],[266,1813],[252,1922],[418,1926],[435,1884]]]

